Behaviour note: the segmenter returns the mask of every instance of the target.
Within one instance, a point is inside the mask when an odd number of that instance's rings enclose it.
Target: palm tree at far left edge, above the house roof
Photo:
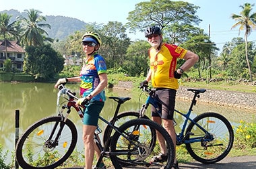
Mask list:
[[[16,21],[9,23],[11,15],[7,13],[0,13],[0,32],[3,35],[5,42],[5,57],[7,57],[7,36],[14,36],[18,38],[19,25],[15,24]]]

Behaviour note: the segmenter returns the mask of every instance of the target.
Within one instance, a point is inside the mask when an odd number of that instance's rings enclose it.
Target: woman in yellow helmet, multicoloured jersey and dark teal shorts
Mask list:
[[[98,150],[98,147],[94,143],[94,131],[98,126],[99,114],[106,100],[104,88],[108,84],[106,62],[97,53],[101,45],[101,38],[96,32],[86,32],[82,36],[82,47],[86,56],[83,58],[80,75],[70,78],[60,78],[55,84],[55,88],[57,88],[61,83],[81,82],[80,95],[82,98],[77,100],[77,104],[81,105],[90,100],[84,111],[83,125],[86,169],[92,169],[94,151],[96,151],[97,158],[100,157],[100,150]],[[102,162],[99,168],[104,169],[106,166]]]

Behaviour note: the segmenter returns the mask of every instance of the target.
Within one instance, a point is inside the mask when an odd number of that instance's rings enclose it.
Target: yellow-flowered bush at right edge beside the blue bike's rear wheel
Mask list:
[[[256,123],[246,123],[240,121],[240,125],[234,130],[234,148],[243,150],[246,148],[256,148]]]

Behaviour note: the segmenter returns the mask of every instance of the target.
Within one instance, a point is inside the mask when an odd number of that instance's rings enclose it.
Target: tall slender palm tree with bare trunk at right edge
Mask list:
[[[244,6],[240,6],[243,8],[243,10],[241,11],[241,15],[236,15],[236,14],[232,14],[232,19],[234,19],[235,21],[237,21],[234,25],[232,25],[231,29],[233,29],[236,26],[240,26],[239,27],[239,34],[241,30],[245,29],[245,56],[246,56],[246,60],[247,60],[247,65],[248,65],[248,69],[249,69],[249,74],[250,74],[250,80],[253,81],[253,76],[251,73],[251,66],[250,66],[250,62],[249,62],[249,58],[248,58],[248,52],[247,52],[247,38],[248,36],[251,34],[251,32],[253,30],[255,30],[256,28],[256,13],[252,13],[252,7],[254,6],[251,5],[250,3],[245,3]]]

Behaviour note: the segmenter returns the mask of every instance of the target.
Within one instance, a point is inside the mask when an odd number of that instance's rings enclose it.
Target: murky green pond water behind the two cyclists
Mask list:
[[[20,135],[25,129],[34,123],[35,121],[42,119],[42,117],[56,115],[56,101],[57,90],[53,88],[54,84],[48,83],[0,83],[0,143],[3,145],[4,152],[9,150],[14,151],[15,146],[15,110],[20,110]],[[67,87],[76,93],[79,93],[79,84],[68,84]],[[139,101],[139,90],[137,91],[125,91],[125,90],[113,90],[107,89],[106,95],[119,96],[119,97],[131,97],[130,101],[127,101],[121,106],[120,111],[137,111],[146,96],[143,96]],[[203,95],[201,95],[203,97]],[[179,111],[186,112],[189,108],[189,101],[177,100],[177,109]],[[111,119],[113,113],[117,107],[117,103],[113,100],[107,99],[104,109],[102,110],[102,117],[105,119]],[[218,112],[227,117],[233,125],[239,123],[241,119],[251,122],[255,121],[256,113],[253,111],[247,111],[243,109],[234,109],[232,107],[223,107],[218,105],[209,105],[200,103],[200,99],[197,101],[197,105],[194,107],[194,112]],[[197,115],[193,114],[193,116]],[[150,115],[148,110],[147,115]],[[70,114],[71,120],[77,125],[79,150],[82,150],[82,122],[77,116],[74,110]],[[179,119],[179,117],[177,117]],[[181,121],[179,121],[181,123]],[[99,123],[103,130],[105,125],[100,121]],[[8,161],[10,162],[11,154],[9,153]]]

